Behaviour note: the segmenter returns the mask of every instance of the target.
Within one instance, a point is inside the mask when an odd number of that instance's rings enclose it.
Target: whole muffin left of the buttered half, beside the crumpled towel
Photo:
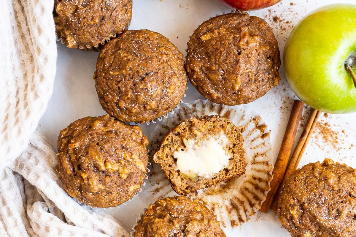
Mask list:
[[[143,184],[148,139],[138,126],[109,115],[85,117],[59,133],[59,179],[75,199],[91,207],[115,207]]]

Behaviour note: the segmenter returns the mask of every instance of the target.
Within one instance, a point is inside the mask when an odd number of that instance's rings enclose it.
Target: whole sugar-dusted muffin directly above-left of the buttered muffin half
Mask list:
[[[166,115],[187,88],[183,55],[163,35],[125,31],[100,51],[94,73],[103,109],[123,122]]]

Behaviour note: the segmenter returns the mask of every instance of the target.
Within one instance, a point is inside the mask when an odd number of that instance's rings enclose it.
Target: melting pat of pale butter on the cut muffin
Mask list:
[[[195,181],[199,176],[212,177],[229,164],[231,156],[226,151],[229,139],[224,133],[199,142],[194,139],[183,141],[185,149],[173,154],[180,174]]]

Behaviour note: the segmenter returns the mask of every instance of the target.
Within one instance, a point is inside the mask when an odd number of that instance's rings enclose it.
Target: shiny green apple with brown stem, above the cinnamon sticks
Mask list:
[[[328,5],[304,17],[283,62],[290,87],[310,107],[356,112],[356,5]]]

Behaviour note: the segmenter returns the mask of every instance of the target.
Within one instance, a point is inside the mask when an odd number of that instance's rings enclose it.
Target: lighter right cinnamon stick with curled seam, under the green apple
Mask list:
[[[314,132],[314,128],[316,126],[316,122],[318,122],[318,118],[320,116],[320,111],[316,109],[312,109],[312,112],[310,112],[309,119],[307,124],[305,124],[305,127],[303,129],[302,135],[299,138],[299,141],[297,143],[297,146],[295,146],[292,158],[290,158],[286,174],[284,174],[282,185],[279,186],[277,190],[276,197],[274,198],[274,202],[271,206],[272,211],[277,211],[278,208],[278,200],[279,197],[281,196],[281,191],[283,188],[283,185],[286,183],[287,179],[292,175],[295,169],[297,169],[297,166],[299,164],[300,159],[303,156],[303,153],[305,151],[305,148],[308,145],[308,142]]]

